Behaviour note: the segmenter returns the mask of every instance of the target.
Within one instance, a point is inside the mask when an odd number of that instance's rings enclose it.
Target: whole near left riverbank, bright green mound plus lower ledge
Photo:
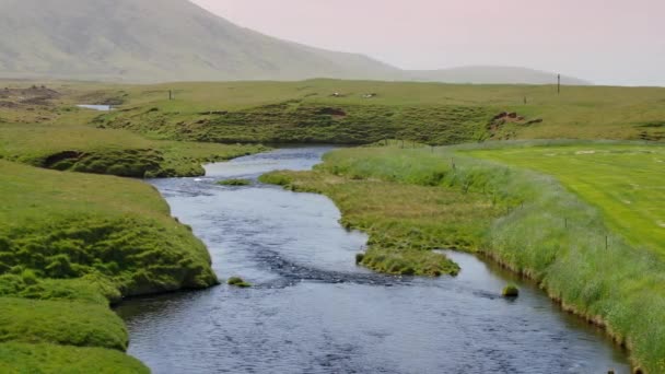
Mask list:
[[[141,182],[1,160],[0,175],[0,367],[147,371],[108,351],[128,344],[108,305],[217,284],[205,245]]]

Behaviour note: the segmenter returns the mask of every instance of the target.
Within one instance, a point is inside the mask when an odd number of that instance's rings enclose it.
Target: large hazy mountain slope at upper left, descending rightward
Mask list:
[[[0,78],[551,82],[530,71],[463,72],[405,72],[366,56],[277,39],[187,0],[0,0]]]

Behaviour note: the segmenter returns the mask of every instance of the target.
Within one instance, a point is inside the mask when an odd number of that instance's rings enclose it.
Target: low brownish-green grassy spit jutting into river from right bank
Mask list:
[[[363,266],[392,274],[456,274],[458,266],[432,249],[478,249],[482,224],[489,225],[499,210],[479,194],[436,188],[429,182],[377,180],[378,174],[363,176],[337,162],[354,152],[353,160],[371,165],[375,151],[334,152],[316,172],[276,172],[261,176],[261,182],[329,196],[341,210],[346,227],[370,234],[370,248],[360,261]],[[416,168],[405,164],[404,170]]]

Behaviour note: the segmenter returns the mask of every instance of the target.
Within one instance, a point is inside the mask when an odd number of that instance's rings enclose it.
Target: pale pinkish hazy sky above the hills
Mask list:
[[[405,69],[506,65],[665,85],[665,0],[192,0],[245,27]]]

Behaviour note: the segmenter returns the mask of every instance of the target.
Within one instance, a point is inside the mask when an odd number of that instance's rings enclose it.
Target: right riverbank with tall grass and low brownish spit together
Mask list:
[[[617,157],[646,156],[639,147],[617,147]],[[588,144],[568,148],[575,155],[588,149]],[[662,152],[661,148],[650,150]],[[492,152],[482,155],[494,160]],[[499,151],[497,160],[527,162],[526,154],[513,157],[511,152]],[[536,152],[557,153],[557,148]],[[657,159],[657,154],[649,155]],[[565,157],[559,157],[557,165],[575,174],[574,166],[567,167]],[[651,180],[643,186],[655,186],[662,177],[662,173],[650,174],[650,166],[639,160],[608,160],[604,165],[593,180],[619,196],[630,194],[632,173]],[[617,178],[623,178],[623,184],[617,184]],[[605,213],[604,200],[575,194],[573,182],[561,178],[560,184],[550,176],[450,148],[397,147],[336,151],[314,172],[278,172],[264,180],[330,196],[340,207],[343,222],[368,231],[371,245],[378,250],[387,237],[390,243],[404,243],[396,248],[398,253],[453,246],[491,256],[540,282],[565,308],[606,326],[648,373],[665,371],[665,330],[661,328],[665,326],[665,292],[660,287],[665,262],[658,250],[635,244],[630,235],[625,237]],[[646,198],[652,199],[653,211],[663,208],[657,194]],[[639,210],[634,214],[640,215]],[[649,233],[657,236],[660,229],[652,223]],[[387,256],[384,259],[389,261]],[[411,264],[405,267],[418,262],[408,261]]]

